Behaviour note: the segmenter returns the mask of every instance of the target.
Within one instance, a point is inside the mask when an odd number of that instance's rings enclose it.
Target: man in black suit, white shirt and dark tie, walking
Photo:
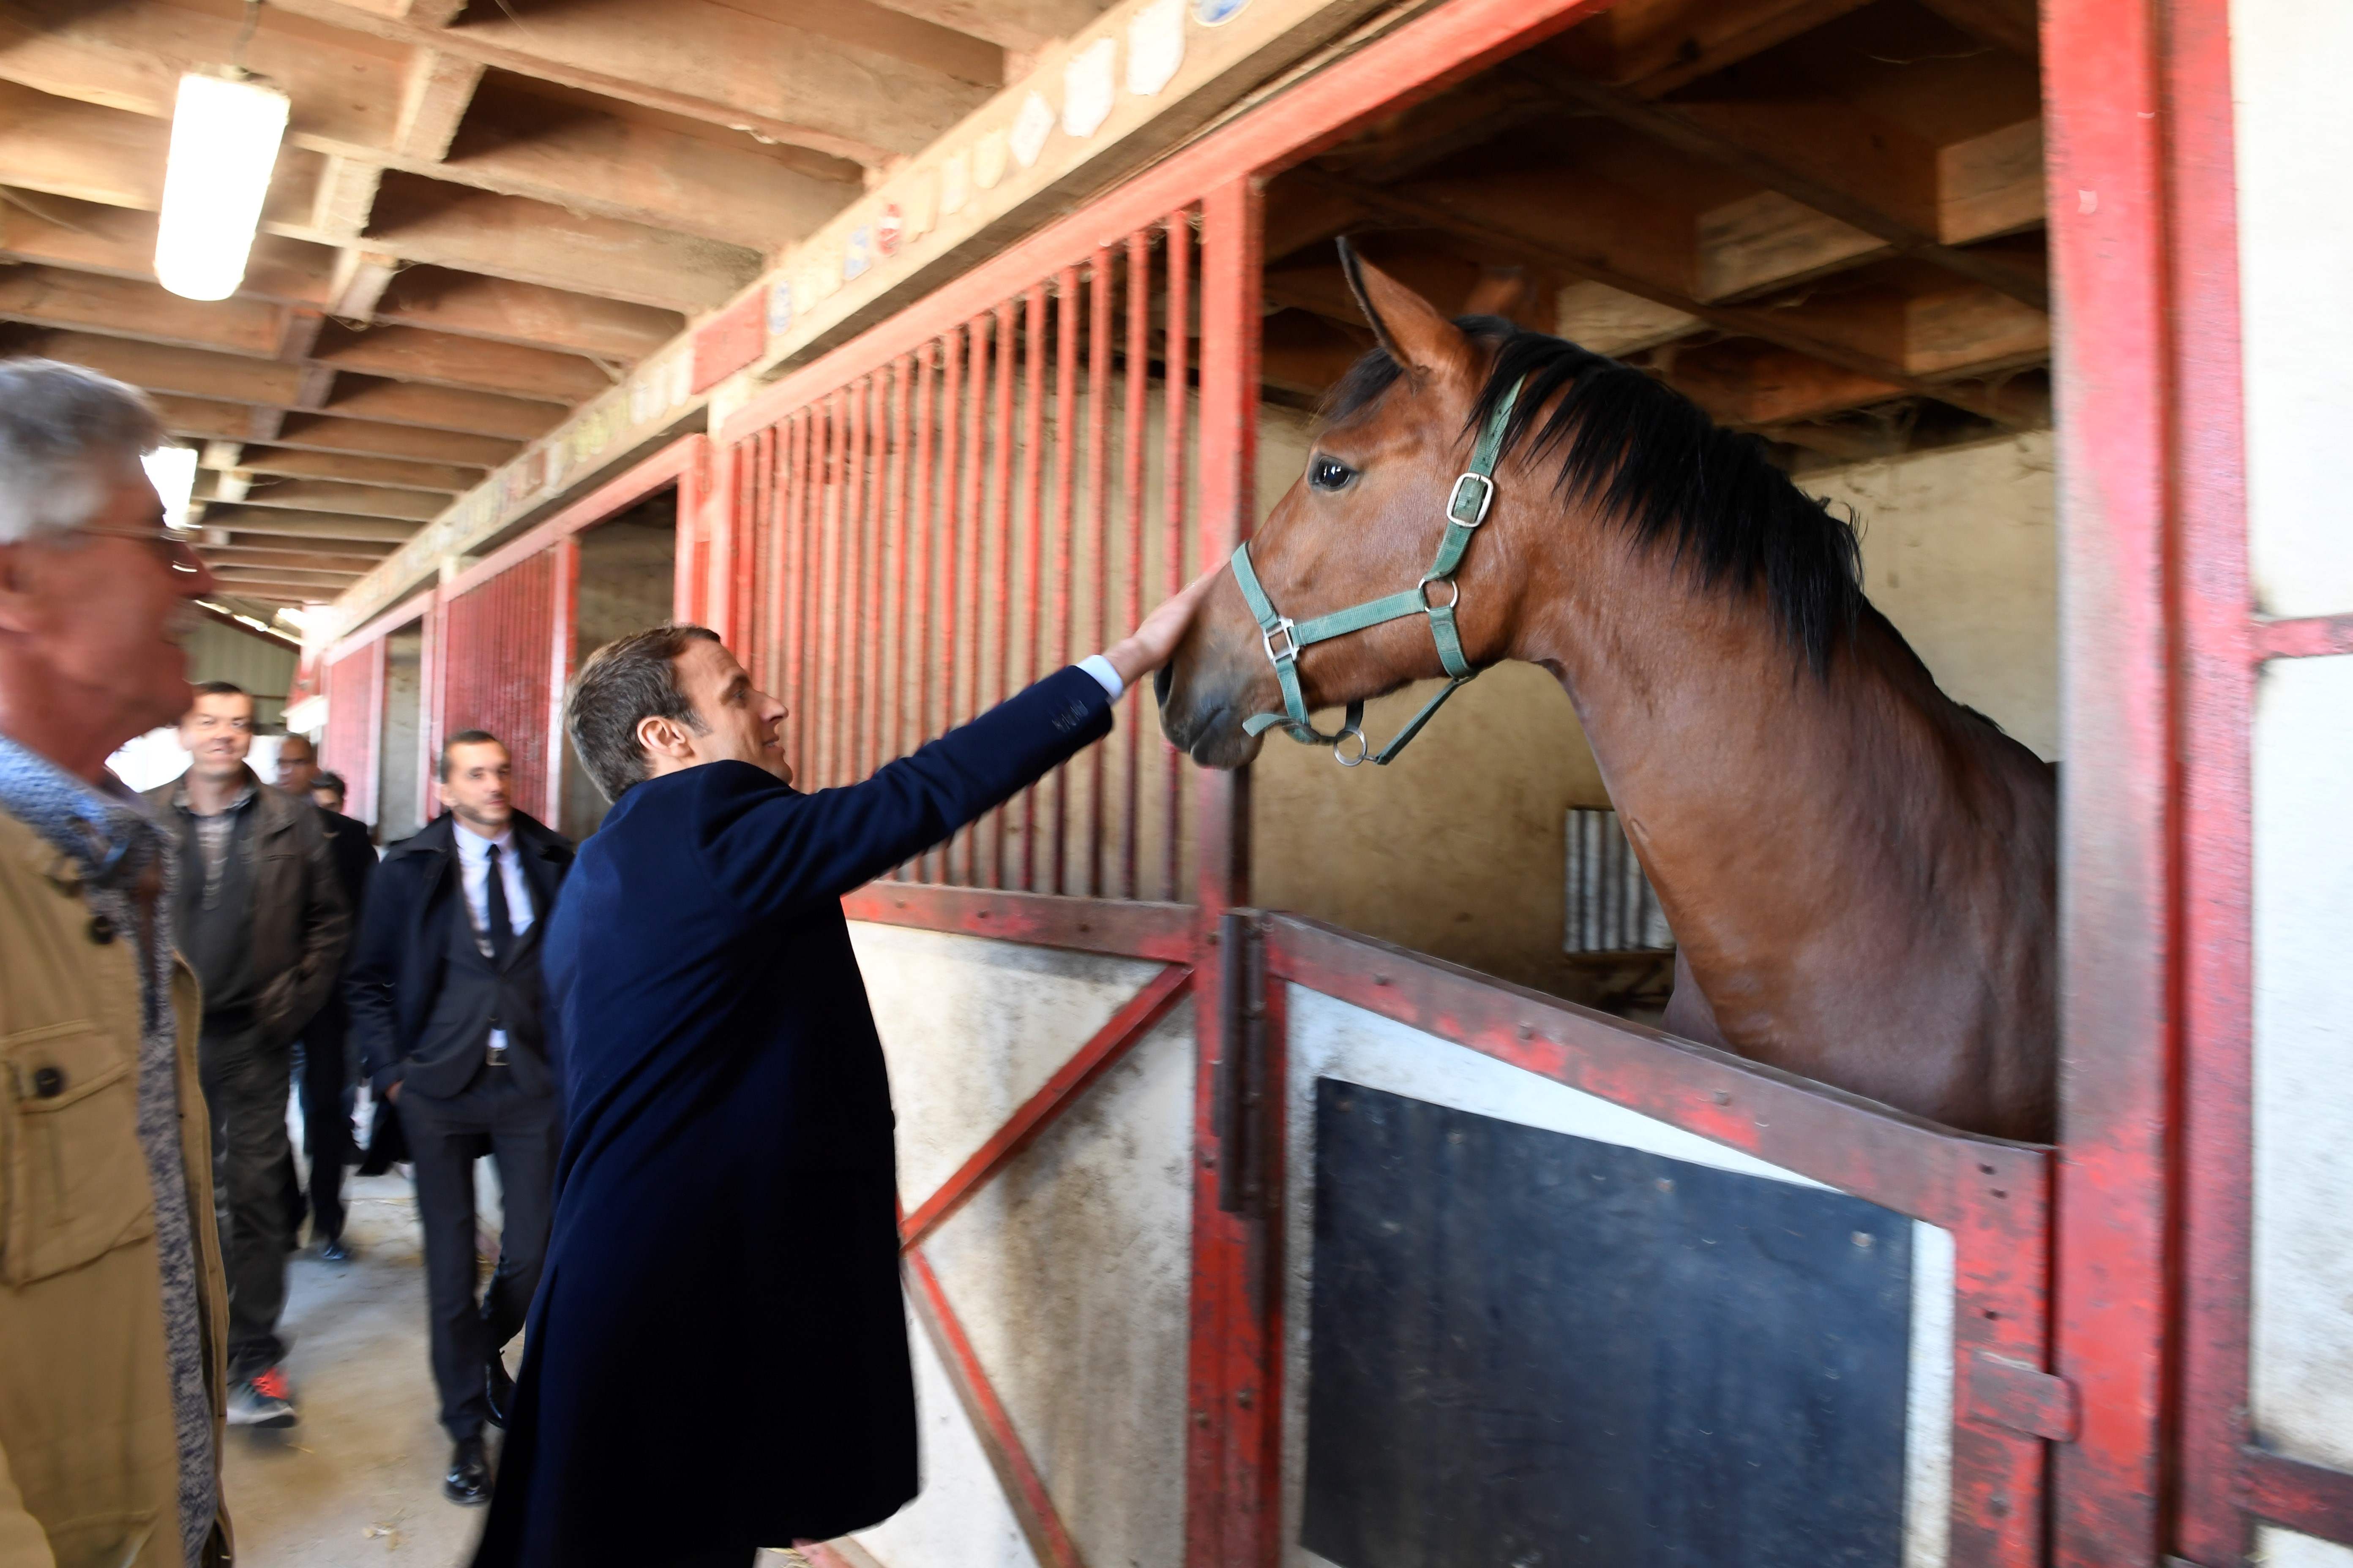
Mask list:
[[[433,1382],[456,1450],[442,1493],[489,1502],[482,1425],[506,1425],[499,1352],[548,1246],[562,1107],[539,1018],[539,938],[572,844],[508,802],[496,736],[442,745],[442,816],[376,867],[346,997],[369,1084],[400,1110],[426,1232]],[[499,1269],[475,1302],[473,1157],[499,1161]]]

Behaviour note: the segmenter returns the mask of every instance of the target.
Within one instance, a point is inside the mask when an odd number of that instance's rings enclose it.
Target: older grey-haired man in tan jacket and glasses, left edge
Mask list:
[[[0,362],[0,1568],[228,1561],[195,978],[118,745],[188,708],[212,574],[139,393]]]

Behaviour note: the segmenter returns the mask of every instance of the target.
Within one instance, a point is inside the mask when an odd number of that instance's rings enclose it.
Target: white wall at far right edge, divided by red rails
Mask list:
[[[2353,7],[2233,0],[2247,534],[2271,616],[2353,614]],[[2353,658],[2264,668],[2254,717],[2254,1295],[2259,1441],[2353,1469]],[[2271,1533],[2268,1561],[2353,1563]],[[2271,1549],[2271,1547],[2266,1547]]]

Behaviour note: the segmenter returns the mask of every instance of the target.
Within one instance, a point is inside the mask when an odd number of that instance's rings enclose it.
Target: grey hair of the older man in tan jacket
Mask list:
[[[0,360],[0,545],[78,529],[106,503],[106,468],[165,444],[139,388],[56,360]]]

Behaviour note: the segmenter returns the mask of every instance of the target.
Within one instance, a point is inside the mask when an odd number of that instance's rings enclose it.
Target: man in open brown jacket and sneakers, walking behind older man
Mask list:
[[[146,799],[179,856],[172,936],[205,990],[198,1072],[228,1262],[228,1425],[292,1427],[278,1338],[292,1241],[287,1088],[294,1037],[334,990],[351,912],[318,809],[245,766],[254,745],[247,691],[198,684],[179,743],[188,771]]]

